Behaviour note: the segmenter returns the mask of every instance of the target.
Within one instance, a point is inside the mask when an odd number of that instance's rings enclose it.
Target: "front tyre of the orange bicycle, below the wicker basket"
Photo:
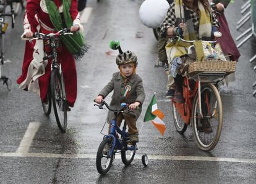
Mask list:
[[[205,83],[202,85],[202,88],[201,88],[201,94],[202,92],[206,91],[206,90],[209,90],[209,91],[212,91],[213,93],[210,95],[210,100],[213,98],[213,96],[216,98],[216,101],[215,101],[215,117],[218,116],[218,125],[216,127],[216,132],[213,131],[213,140],[208,144],[206,145],[205,143],[203,143],[199,137],[199,130],[197,130],[197,123],[198,123],[198,118],[197,118],[197,104],[198,104],[198,95],[195,96],[194,98],[194,103],[193,103],[193,108],[192,108],[192,131],[193,131],[193,134],[194,134],[194,138],[195,138],[195,141],[197,143],[197,146],[200,150],[203,150],[203,151],[211,151],[213,150],[213,148],[215,148],[216,144],[218,143],[219,139],[220,139],[220,135],[221,135],[221,129],[222,129],[222,124],[223,124],[223,107],[222,107],[222,102],[221,102],[221,97],[220,97],[220,93],[218,91],[218,89],[213,85],[213,84],[210,84],[210,83]],[[209,100],[209,101],[210,101]],[[217,114],[218,112],[218,114]],[[217,118],[215,118],[217,119]],[[206,134],[204,132],[202,132],[203,136],[204,137],[207,137],[207,135],[210,136],[210,134]]]

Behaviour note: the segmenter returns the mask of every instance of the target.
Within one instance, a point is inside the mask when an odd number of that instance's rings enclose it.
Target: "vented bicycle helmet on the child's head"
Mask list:
[[[126,52],[117,55],[116,65],[120,66],[129,63],[134,63],[135,67],[138,65],[137,56],[134,54],[134,52],[127,50]]]

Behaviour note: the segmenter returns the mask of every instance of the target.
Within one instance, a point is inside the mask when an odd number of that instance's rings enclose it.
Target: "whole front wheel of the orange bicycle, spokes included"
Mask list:
[[[200,97],[203,117],[200,117],[196,95],[192,109],[192,130],[198,148],[211,151],[218,143],[223,124],[221,97],[218,89],[209,83],[202,85]]]

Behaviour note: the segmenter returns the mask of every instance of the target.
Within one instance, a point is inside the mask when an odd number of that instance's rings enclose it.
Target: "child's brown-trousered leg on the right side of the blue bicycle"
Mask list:
[[[135,117],[127,113],[123,113],[123,116],[129,128],[128,133],[130,142],[139,142],[139,130],[136,127]]]

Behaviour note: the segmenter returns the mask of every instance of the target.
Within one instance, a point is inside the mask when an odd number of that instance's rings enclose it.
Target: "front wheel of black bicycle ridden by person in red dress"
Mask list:
[[[51,98],[53,100],[53,110],[55,118],[62,133],[66,132],[67,128],[67,102],[63,99],[65,89],[62,86],[61,74],[59,68],[54,68],[51,71]]]

